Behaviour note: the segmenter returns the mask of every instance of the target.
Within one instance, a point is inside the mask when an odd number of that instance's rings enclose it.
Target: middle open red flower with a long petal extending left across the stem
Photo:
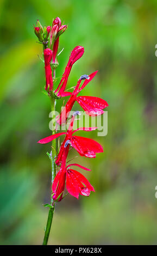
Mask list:
[[[64,142],[61,144],[59,154],[56,157],[55,163],[59,165],[63,161],[64,157],[64,151],[65,148],[67,147],[68,144],[71,145],[74,149],[76,149],[79,153],[80,156],[85,156],[85,157],[96,157],[96,153],[103,153],[103,147],[101,144],[99,144],[96,141],[93,141],[93,139],[90,138],[85,138],[85,137],[80,137],[80,136],[73,136],[73,133],[76,131],[93,131],[96,130],[97,127],[80,127],[77,130],[72,131],[73,129],[73,123],[74,123],[74,117],[75,115],[78,114],[78,112],[73,114],[73,117],[71,119],[71,123],[68,127],[67,132],[60,132],[56,133],[55,135],[48,136],[44,139],[41,139],[38,143],[45,144],[48,142],[53,141],[53,139],[61,136],[61,135],[66,135]]]

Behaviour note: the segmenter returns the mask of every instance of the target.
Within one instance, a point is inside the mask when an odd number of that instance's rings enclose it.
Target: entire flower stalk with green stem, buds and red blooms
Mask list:
[[[80,137],[74,135],[77,131],[94,131],[97,127],[79,127],[76,130],[73,130],[74,121],[76,115],[79,115],[79,111],[74,112],[71,117],[70,125],[68,126],[67,131],[57,133],[57,129],[62,124],[67,124],[67,118],[70,115],[72,107],[75,102],[78,102],[79,105],[84,109],[87,115],[96,116],[104,113],[103,109],[108,107],[108,103],[95,96],[78,96],[78,94],[83,90],[87,84],[95,77],[97,71],[93,72],[90,75],[80,76],[76,87],[71,87],[73,92],[67,92],[66,86],[68,82],[68,77],[74,63],[79,60],[84,54],[83,46],[76,46],[70,54],[68,59],[64,74],[61,77],[61,80],[54,88],[54,84],[57,80],[55,78],[55,70],[59,65],[58,62],[58,50],[59,50],[59,38],[67,29],[66,25],[61,25],[61,20],[59,17],[56,17],[53,20],[51,26],[42,26],[39,20],[36,22],[36,27],[34,26],[34,32],[37,36],[40,44],[43,45],[43,57],[45,63],[45,78],[46,85],[45,90],[47,91],[49,100],[51,102],[51,117],[52,117],[52,135],[46,138],[40,139],[38,143],[45,144],[51,142],[51,152],[47,153],[49,160],[51,161],[51,202],[45,204],[49,208],[47,224],[45,229],[45,235],[43,239],[43,245],[47,245],[49,234],[51,231],[51,225],[54,215],[55,203],[60,202],[67,193],[65,193],[65,187],[67,192],[77,199],[79,196],[90,196],[90,192],[95,192],[94,187],[90,182],[85,178],[85,176],[79,173],[73,167],[79,167],[83,170],[91,171],[89,168],[81,166],[78,163],[71,163],[67,160],[69,151],[71,148],[74,148],[81,157],[88,157],[89,159],[95,158],[97,153],[103,153],[103,147],[98,142],[94,141],[91,138]],[[81,83],[83,84],[81,85]],[[55,116],[55,105],[56,100],[59,100],[61,97],[70,96],[66,102],[65,107],[62,109],[58,117]],[[61,135],[65,135],[64,141],[62,141],[61,146],[58,147],[58,153],[56,152],[56,139]],[[59,145],[59,144],[58,144]],[[56,172],[56,166],[58,166],[58,172]],[[64,194],[65,193],[65,194]]]

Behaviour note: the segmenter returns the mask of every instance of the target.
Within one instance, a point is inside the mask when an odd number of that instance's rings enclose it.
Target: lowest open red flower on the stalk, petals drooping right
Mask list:
[[[73,197],[78,199],[79,194],[81,196],[89,196],[90,192],[95,192],[95,189],[90,184],[90,182],[77,170],[73,170],[71,166],[78,166],[84,170],[90,170],[81,166],[80,164],[73,163],[69,164],[66,168],[60,168],[59,172],[56,174],[52,185],[53,199],[60,201],[62,199],[62,194],[64,193],[65,182],[68,193]]]

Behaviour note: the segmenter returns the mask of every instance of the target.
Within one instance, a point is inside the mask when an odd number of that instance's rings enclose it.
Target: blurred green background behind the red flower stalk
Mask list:
[[[84,175],[95,187],[89,198],[67,196],[56,204],[49,244],[157,243],[157,3],[155,0],[0,1],[1,173],[0,243],[40,245],[51,191],[48,135],[49,101],[42,47],[33,25],[51,25],[59,16],[68,25],[60,37],[61,76],[71,50],[84,56],[73,66],[68,86],[99,70],[82,95],[109,103],[108,135],[96,159],[73,162],[92,169]],[[60,109],[58,103],[57,109]],[[74,105],[73,109],[79,109]],[[74,150],[70,158],[76,156]]]

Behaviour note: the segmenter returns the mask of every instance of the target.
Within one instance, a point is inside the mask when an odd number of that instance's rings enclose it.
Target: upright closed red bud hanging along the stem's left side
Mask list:
[[[53,89],[53,80],[52,80],[52,70],[51,70],[51,60],[52,60],[52,50],[49,48],[46,48],[43,51],[43,56],[45,59],[45,76],[46,76],[46,87],[45,89],[48,89],[49,86],[49,91]]]

